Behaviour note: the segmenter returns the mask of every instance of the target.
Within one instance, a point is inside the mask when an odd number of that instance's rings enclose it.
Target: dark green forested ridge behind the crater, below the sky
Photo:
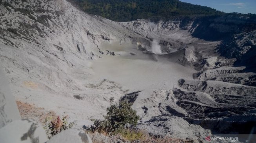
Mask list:
[[[174,16],[223,14],[210,7],[179,0],[73,0],[89,13],[114,21],[168,20]]]

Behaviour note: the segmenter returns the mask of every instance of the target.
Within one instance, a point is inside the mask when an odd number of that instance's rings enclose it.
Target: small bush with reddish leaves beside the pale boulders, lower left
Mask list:
[[[45,119],[45,127],[46,134],[48,138],[51,138],[52,136],[58,134],[62,130],[67,130],[70,128],[73,128],[73,126],[76,124],[75,122],[68,123],[68,116],[62,117],[60,119],[60,116],[57,118],[48,117]]]

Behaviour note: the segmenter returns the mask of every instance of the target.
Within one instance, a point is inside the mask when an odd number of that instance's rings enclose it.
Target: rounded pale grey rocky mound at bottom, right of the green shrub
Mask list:
[[[203,129],[198,125],[191,125],[181,117],[177,116],[155,116],[138,127],[146,129],[152,136],[163,138],[170,136],[172,138],[194,139],[195,143],[204,140],[205,136],[211,135],[211,131]]]

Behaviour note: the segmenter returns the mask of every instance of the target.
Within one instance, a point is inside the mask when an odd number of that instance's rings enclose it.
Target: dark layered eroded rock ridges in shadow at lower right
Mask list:
[[[174,96],[179,100],[177,105],[188,112],[185,120],[189,123],[222,133],[251,131],[246,126],[255,122],[255,87],[183,79],[179,83],[181,89],[174,91]],[[211,99],[212,103],[198,97],[200,94]]]

